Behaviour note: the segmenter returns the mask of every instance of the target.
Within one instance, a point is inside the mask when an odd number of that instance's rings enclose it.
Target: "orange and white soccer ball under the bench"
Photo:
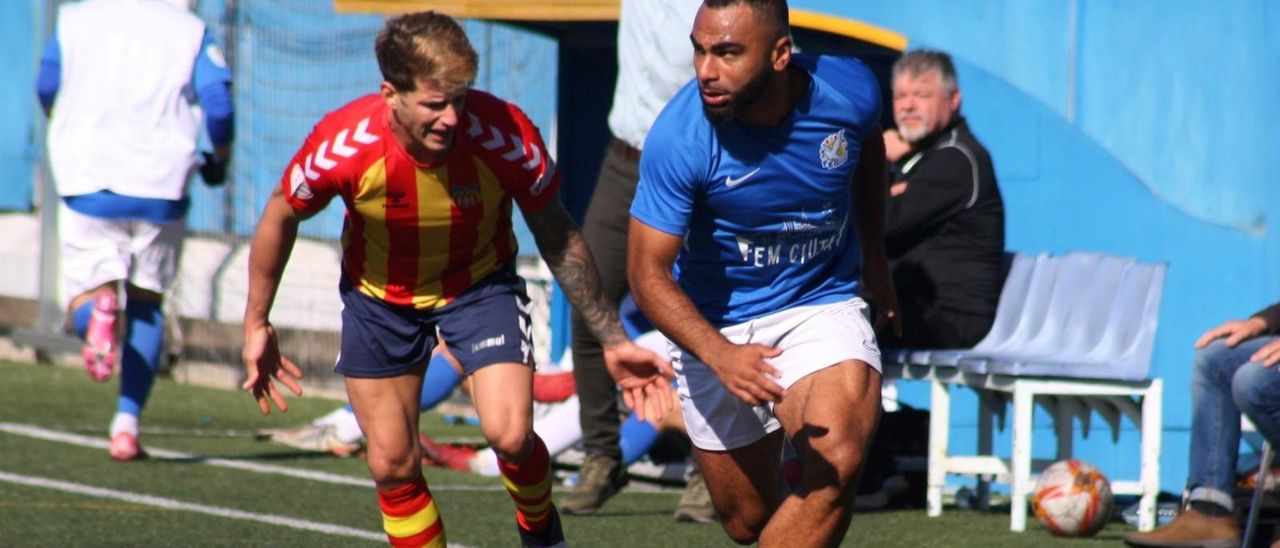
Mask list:
[[[1057,461],[1036,480],[1032,511],[1055,535],[1093,536],[1111,520],[1107,478],[1084,461]]]

